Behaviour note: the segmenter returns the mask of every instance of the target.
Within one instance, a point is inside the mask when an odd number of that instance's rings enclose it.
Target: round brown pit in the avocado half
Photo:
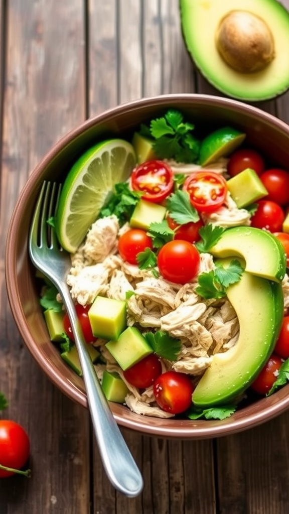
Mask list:
[[[223,60],[241,73],[261,71],[275,57],[272,32],[249,11],[226,14],[216,30],[215,43]]]

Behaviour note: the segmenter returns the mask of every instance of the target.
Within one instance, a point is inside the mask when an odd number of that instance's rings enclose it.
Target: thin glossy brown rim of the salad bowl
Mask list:
[[[274,115],[270,113],[262,111],[262,109],[256,107],[255,105],[252,106],[244,104],[242,101],[234,100],[231,98],[223,98],[215,95],[204,95],[197,93],[167,94],[147,98],[140,98],[106,109],[106,111],[83,121],[80,125],[73,128],[62,138],[60,138],[55,144],[51,146],[50,150],[44,155],[41,161],[32,170],[25,185],[23,186],[20,192],[19,197],[16,200],[12,216],[10,218],[10,223],[8,226],[5,248],[5,281],[12,315],[15,324],[24,340],[24,343],[28,348],[28,351],[37,361],[38,365],[40,366],[42,371],[44,371],[45,375],[53,384],[55,384],[58,387],[58,389],[60,389],[60,391],[63,394],[68,396],[71,400],[76,401],[83,407],[87,407],[87,398],[85,393],[82,393],[77,388],[77,386],[75,386],[75,384],[69,382],[66,378],[59,375],[59,373],[57,373],[57,370],[53,367],[53,365],[50,362],[44,362],[40,346],[35,346],[32,343],[28,325],[26,324],[26,318],[21,308],[21,304],[17,304],[17,299],[15,302],[15,294],[13,294],[13,291],[17,291],[17,280],[15,272],[17,263],[13,259],[13,250],[15,249],[16,244],[14,234],[15,232],[17,232],[17,226],[19,225],[20,218],[22,216],[21,213],[23,212],[23,208],[27,203],[30,189],[32,187],[39,186],[42,182],[40,175],[41,172],[45,170],[48,162],[50,162],[53,157],[57,156],[58,153],[75,137],[79,136],[92,126],[99,124],[107,118],[110,118],[111,116],[123,114],[125,111],[127,111],[127,109],[133,111],[134,109],[139,109],[140,107],[146,107],[156,103],[158,104],[159,108],[161,108],[168,106],[169,103],[172,101],[185,103],[190,100],[198,100],[201,102],[203,101],[206,102],[207,105],[211,103],[214,106],[217,102],[221,107],[232,106],[235,111],[241,112],[244,112],[245,107],[247,115],[253,115],[254,117],[257,116],[258,118],[261,117],[265,122],[273,121],[276,127],[278,127],[281,131],[287,132],[287,134],[289,135],[289,126],[282,120],[276,118]],[[18,308],[18,305],[20,309]],[[283,388],[283,391],[286,389],[289,392],[289,384],[288,386],[285,386]],[[278,394],[278,392],[275,394]],[[265,400],[266,399],[263,398],[259,400],[259,402],[264,403]],[[264,407],[263,409],[261,409],[260,412],[254,411],[248,414],[246,417],[242,417],[240,419],[238,419],[238,416],[234,414],[230,418],[227,418],[227,420],[214,420],[214,423],[205,421],[205,423],[208,423],[208,425],[205,426],[204,424],[202,424],[200,428],[198,428],[198,425],[195,424],[194,421],[184,420],[184,423],[182,424],[182,429],[180,431],[179,424],[178,428],[174,428],[173,425],[171,427],[170,423],[169,426],[166,426],[166,422],[168,422],[169,420],[164,420],[162,418],[149,418],[150,423],[148,423],[148,416],[146,416],[146,423],[144,423],[142,419],[144,419],[145,416],[133,416],[132,414],[134,413],[132,413],[131,411],[128,411],[128,416],[125,416],[123,415],[123,406],[119,407],[117,404],[112,404],[113,415],[119,425],[147,435],[156,435],[169,438],[178,437],[182,439],[203,439],[211,437],[220,437],[224,435],[241,432],[249,428],[256,427],[264,423],[265,421],[278,416],[279,414],[284,412],[288,407],[289,394],[283,394],[281,399],[279,399],[276,402],[273,402],[267,408]],[[246,407],[245,409],[249,408]],[[154,424],[154,420],[156,420],[156,424]]]

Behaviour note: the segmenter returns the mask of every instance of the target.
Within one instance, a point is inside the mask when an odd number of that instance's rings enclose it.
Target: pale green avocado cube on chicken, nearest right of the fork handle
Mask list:
[[[93,335],[102,339],[118,339],[127,326],[127,304],[123,300],[97,296],[88,310]]]

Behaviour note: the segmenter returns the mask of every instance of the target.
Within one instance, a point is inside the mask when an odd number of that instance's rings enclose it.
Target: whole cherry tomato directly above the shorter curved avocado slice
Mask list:
[[[285,214],[280,205],[270,200],[259,200],[257,211],[251,217],[251,226],[281,232]]]

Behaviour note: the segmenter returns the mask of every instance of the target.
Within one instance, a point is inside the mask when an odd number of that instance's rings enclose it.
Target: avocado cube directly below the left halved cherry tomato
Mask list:
[[[134,228],[148,230],[151,223],[160,223],[165,214],[166,207],[141,198],[135,206],[130,225]]]

